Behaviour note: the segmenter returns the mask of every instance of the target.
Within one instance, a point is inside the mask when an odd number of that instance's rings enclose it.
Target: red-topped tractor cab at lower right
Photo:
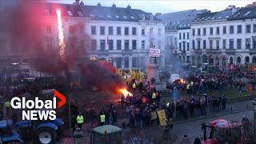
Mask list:
[[[241,139],[241,122],[228,121],[219,118],[210,122],[202,123],[203,142],[202,144],[218,143],[239,143]]]

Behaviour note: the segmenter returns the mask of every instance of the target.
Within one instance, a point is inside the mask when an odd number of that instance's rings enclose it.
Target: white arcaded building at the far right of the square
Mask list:
[[[235,8],[198,15],[191,22],[191,65],[231,68],[256,63],[256,9]]]

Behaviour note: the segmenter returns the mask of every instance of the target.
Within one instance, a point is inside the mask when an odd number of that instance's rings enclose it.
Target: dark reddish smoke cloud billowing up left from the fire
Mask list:
[[[10,1],[12,2],[12,1]],[[58,4],[56,4],[58,6]],[[46,17],[42,17],[48,5],[40,1],[35,4],[33,1],[21,0],[13,1],[8,8],[0,14],[0,25],[8,27],[6,37],[11,41],[10,53],[18,55],[31,66],[36,66],[37,70],[55,76],[66,74],[70,77],[70,71],[77,70],[82,77],[92,86],[97,86],[103,90],[114,91],[117,87],[122,87],[122,78],[112,71],[102,67],[98,62],[86,60],[84,55],[90,51],[90,37],[86,34],[70,39],[65,38],[66,46],[70,42],[78,44],[85,41],[86,51],[78,50],[74,45],[74,50],[66,47],[65,60],[61,61],[58,55],[58,47],[53,47],[52,51],[46,50],[43,43],[46,41]],[[57,19],[56,19],[57,22]],[[80,25],[80,23],[77,23]],[[58,35],[58,34],[54,34]]]

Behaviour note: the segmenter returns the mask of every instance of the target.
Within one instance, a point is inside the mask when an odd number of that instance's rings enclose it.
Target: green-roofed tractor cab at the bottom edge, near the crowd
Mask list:
[[[105,125],[93,129],[92,143],[106,144],[122,143],[121,128],[118,126]]]

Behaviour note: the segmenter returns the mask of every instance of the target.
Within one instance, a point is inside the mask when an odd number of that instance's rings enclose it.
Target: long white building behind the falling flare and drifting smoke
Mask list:
[[[0,3],[3,14],[3,2]],[[86,6],[78,0],[74,4],[41,4],[45,5],[46,10],[43,10],[44,14],[38,16],[38,20],[42,20],[42,26],[38,29],[43,34],[40,46],[45,50],[58,50],[58,23],[55,10],[59,8],[62,10],[66,50],[79,49],[86,58],[110,60],[118,69],[129,70],[145,69],[150,62],[150,48],[157,48],[161,50],[158,64],[164,64],[162,55],[165,53],[165,22],[155,18],[153,14],[132,9],[130,6],[117,7],[114,4],[110,7],[101,6],[99,3],[97,6]],[[9,27],[1,23],[0,25],[2,62],[12,59],[18,62],[22,66],[22,71],[30,77],[44,76],[37,70],[37,66],[28,65],[23,56],[14,53],[13,48],[19,44],[12,42],[7,36]],[[32,52],[29,55],[33,55]],[[37,56],[34,54],[34,57]]]

